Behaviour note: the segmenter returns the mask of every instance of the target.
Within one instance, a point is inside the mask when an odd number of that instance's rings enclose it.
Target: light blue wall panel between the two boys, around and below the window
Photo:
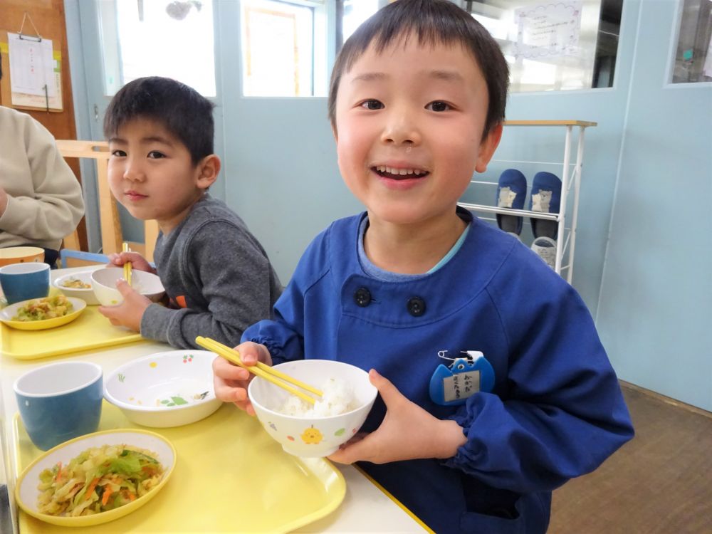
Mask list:
[[[239,5],[219,4],[221,51],[239,51]],[[333,20],[333,14],[330,14]],[[229,28],[224,21],[231,21]],[[330,32],[333,34],[333,31]],[[329,56],[333,63],[333,46]],[[330,221],[363,209],[343,184],[325,98],[241,98],[238,53],[224,53],[226,201],[261,240],[283,283]],[[234,95],[234,96],[229,96]]]

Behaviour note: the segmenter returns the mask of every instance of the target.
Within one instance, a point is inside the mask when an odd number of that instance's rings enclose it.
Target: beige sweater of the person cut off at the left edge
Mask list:
[[[0,247],[58,249],[84,214],[81,186],[54,137],[30,115],[0,107]]]

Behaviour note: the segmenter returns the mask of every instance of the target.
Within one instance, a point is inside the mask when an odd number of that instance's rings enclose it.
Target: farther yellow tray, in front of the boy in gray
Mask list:
[[[16,330],[0,324],[2,353],[18,360],[35,360],[142,339],[138,333],[112,325],[99,313],[98,306],[87,306],[71,323],[48,330]]]

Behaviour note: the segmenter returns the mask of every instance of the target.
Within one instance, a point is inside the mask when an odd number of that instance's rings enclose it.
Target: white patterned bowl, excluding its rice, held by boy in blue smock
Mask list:
[[[260,423],[289,454],[304,457],[329,456],[360,429],[371,411],[378,390],[368,373],[358,367],[333,360],[296,360],[274,366],[313,387],[323,387],[329,379],[340,379],[352,389],[355,408],[330,417],[296,417],[278,410],[290,393],[256,377],[247,388]]]

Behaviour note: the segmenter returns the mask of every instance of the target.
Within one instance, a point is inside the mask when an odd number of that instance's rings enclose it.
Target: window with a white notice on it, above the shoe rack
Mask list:
[[[622,0],[465,0],[500,44],[512,93],[612,87]]]

